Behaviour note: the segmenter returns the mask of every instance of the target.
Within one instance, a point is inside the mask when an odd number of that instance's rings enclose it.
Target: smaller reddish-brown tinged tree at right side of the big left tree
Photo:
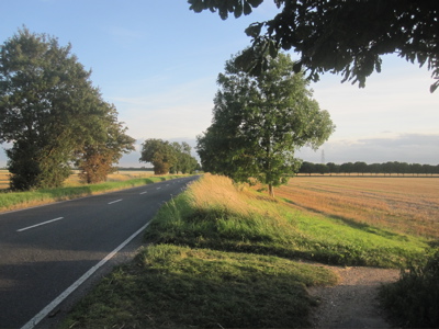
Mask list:
[[[80,178],[87,183],[99,183],[106,180],[113,172],[123,154],[134,150],[135,139],[125,134],[126,127],[117,122],[117,111],[114,105],[101,102],[100,106],[106,112],[100,120],[100,129],[92,140],[86,141],[76,151],[76,164],[80,169]]]

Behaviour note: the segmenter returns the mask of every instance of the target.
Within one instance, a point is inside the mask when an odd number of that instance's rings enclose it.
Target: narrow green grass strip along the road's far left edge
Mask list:
[[[120,182],[105,182],[99,184],[67,186],[30,192],[4,192],[0,193],[0,212],[34,206],[44,203],[71,200],[75,197],[88,196],[110,191],[130,189],[175,178],[181,178],[181,175],[150,177]]]

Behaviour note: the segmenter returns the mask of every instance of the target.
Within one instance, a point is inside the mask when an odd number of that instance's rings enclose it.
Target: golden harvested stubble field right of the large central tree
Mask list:
[[[296,177],[275,193],[345,222],[439,238],[438,178]]]

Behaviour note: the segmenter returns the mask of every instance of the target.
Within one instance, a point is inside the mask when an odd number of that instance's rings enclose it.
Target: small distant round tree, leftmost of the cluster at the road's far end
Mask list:
[[[166,174],[177,163],[176,150],[169,141],[149,138],[142,146],[139,160],[153,163],[155,174]]]

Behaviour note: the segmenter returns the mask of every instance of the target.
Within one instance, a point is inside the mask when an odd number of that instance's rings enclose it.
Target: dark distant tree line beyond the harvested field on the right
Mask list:
[[[418,175],[418,174],[439,174],[439,164],[419,164],[419,163],[407,163],[398,161],[389,161],[384,163],[372,163],[368,164],[362,161],[346,162],[336,164],[334,162],[328,163],[312,163],[304,161],[299,169],[299,173],[307,174],[325,174],[325,173],[345,173],[345,174],[397,174],[397,175]]]

